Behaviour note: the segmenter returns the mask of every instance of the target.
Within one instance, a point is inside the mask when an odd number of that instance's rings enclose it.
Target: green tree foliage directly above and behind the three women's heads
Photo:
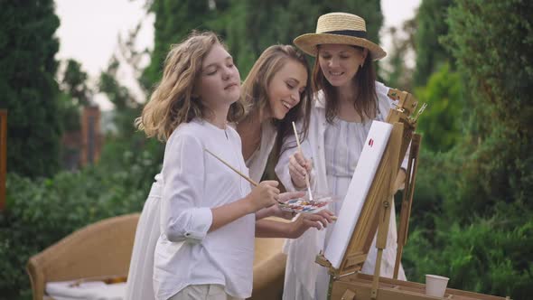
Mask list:
[[[268,46],[291,44],[296,36],[313,33],[321,14],[346,12],[360,15],[367,21],[369,39],[377,43],[383,23],[381,6],[376,0],[154,0],[150,10],[155,14],[155,41],[152,61],[143,77],[148,89],[160,79],[170,45],[181,42],[194,29],[220,34],[244,78]]]

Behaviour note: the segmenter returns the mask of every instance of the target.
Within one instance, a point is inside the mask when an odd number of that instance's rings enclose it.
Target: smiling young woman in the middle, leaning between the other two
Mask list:
[[[268,47],[257,59],[241,88],[241,101],[246,114],[237,124],[242,138],[242,152],[250,177],[259,181],[265,172],[266,161],[274,149],[277,159],[283,141],[293,136],[292,122],[302,120],[303,135],[307,131],[311,108],[306,101],[311,98],[310,71],[304,54],[290,45]],[[272,206],[269,215],[285,218]],[[332,222],[332,212],[302,215],[295,223],[259,220],[256,236],[264,238],[295,239],[309,227],[322,228],[317,223]]]

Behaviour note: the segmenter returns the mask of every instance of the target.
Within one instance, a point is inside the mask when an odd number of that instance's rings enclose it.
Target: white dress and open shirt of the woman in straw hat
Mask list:
[[[392,107],[392,100],[387,97],[388,88],[376,82],[378,94],[379,115],[377,120],[383,120]],[[313,191],[323,194],[336,194],[344,199],[355,165],[358,162],[362,145],[369,133],[371,121],[364,123],[350,123],[335,119],[329,124],[325,119],[325,102],[323,93],[319,93],[313,103],[309,133],[302,143],[302,150],[307,158],[313,160]],[[301,124],[297,124],[301,127]],[[287,139],[285,144],[294,143]],[[351,150],[349,150],[350,148]],[[290,174],[288,160],[295,150],[282,153],[276,165],[276,174],[287,190],[295,190]],[[405,166],[407,161],[404,161]],[[338,213],[341,202],[335,203],[329,209]],[[327,230],[307,230],[298,239],[287,239],[284,251],[287,254],[285,266],[284,300],[293,299],[325,299],[330,278],[326,268],[314,262],[316,254],[325,249],[334,223]],[[381,276],[392,277],[394,259],[396,258],[396,219],[394,210],[391,213],[388,230],[387,248],[384,250],[381,263]],[[376,259],[376,248],[370,247],[369,256],[363,265],[362,272],[373,274]],[[405,279],[403,268],[400,267],[399,279]]]

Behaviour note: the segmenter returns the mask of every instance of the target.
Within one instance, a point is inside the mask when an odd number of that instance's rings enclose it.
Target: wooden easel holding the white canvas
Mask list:
[[[407,164],[405,191],[400,212],[398,230],[397,259],[394,268],[394,277],[397,278],[399,263],[401,261],[403,246],[407,241],[407,228],[413,200],[413,192],[416,182],[416,169],[418,150],[421,136],[415,134],[416,121],[425,106],[420,108],[415,117],[411,117],[416,109],[416,98],[411,94],[397,89],[390,89],[388,97],[397,99],[397,108],[391,109],[387,123],[392,124],[392,132],[388,138],[388,145],[381,156],[379,167],[374,175],[373,182],[367,193],[362,211],[360,211],[355,229],[350,242],[338,268],[332,267],[332,263],[319,254],[316,262],[323,267],[329,268],[331,275],[328,298],[332,300],[429,300],[438,299],[434,296],[425,295],[425,285],[379,277],[383,249],[387,244],[388,223],[390,220],[390,208],[394,205],[394,183],[400,163],[410,146]],[[371,242],[378,232],[376,247],[378,256],[373,276],[360,273],[365,262]],[[501,297],[482,295],[446,289],[445,297],[448,299],[485,299],[497,300]]]

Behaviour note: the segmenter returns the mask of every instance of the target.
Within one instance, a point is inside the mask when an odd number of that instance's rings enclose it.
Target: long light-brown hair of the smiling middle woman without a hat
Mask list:
[[[272,122],[276,127],[275,157],[280,154],[285,137],[293,134],[292,122],[303,118],[304,127],[299,134],[303,139],[307,135],[309,127],[309,116],[311,115],[311,71],[302,52],[299,52],[291,45],[274,45],[266,48],[257,59],[256,63],[249,71],[246,80],[241,87],[241,101],[245,105],[246,114],[242,120],[253,121],[257,111],[263,111],[269,105],[268,85],[276,73],[282,69],[289,60],[302,64],[307,71],[305,89],[300,93],[300,102],[291,108],[281,120],[274,119]]]

